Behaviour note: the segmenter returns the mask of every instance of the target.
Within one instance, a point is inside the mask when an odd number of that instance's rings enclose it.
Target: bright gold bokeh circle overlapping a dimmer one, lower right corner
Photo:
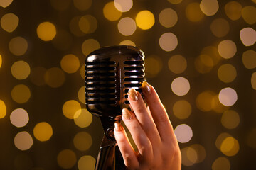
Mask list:
[[[226,156],[234,156],[239,151],[239,143],[234,137],[226,137],[220,145],[220,151]]]

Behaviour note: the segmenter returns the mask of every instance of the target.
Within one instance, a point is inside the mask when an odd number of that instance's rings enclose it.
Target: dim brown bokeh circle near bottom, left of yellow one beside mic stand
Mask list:
[[[86,151],[92,146],[92,137],[87,132],[78,132],[73,139],[73,143],[76,149]]]

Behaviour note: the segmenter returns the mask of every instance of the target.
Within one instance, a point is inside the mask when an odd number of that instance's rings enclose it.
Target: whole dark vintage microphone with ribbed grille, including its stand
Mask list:
[[[114,122],[121,120],[122,108],[129,108],[129,89],[142,94],[144,75],[144,53],[137,47],[102,47],[86,57],[86,107],[100,118],[104,130],[95,170],[125,169],[114,139]]]

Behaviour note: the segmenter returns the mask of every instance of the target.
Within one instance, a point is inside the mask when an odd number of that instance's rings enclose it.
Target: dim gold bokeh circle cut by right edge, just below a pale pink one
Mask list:
[[[242,53],[242,63],[247,69],[254,69],[256,67],[256,52],[254,50],[247,50]]]

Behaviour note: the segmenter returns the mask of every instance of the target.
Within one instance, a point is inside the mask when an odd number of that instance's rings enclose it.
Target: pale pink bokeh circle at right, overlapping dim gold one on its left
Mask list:
[[[226,87],[220,90],[218,95],[220,103],[224,106],[233,106],[238,100],[238,94],[236,91],[230,87]]]

